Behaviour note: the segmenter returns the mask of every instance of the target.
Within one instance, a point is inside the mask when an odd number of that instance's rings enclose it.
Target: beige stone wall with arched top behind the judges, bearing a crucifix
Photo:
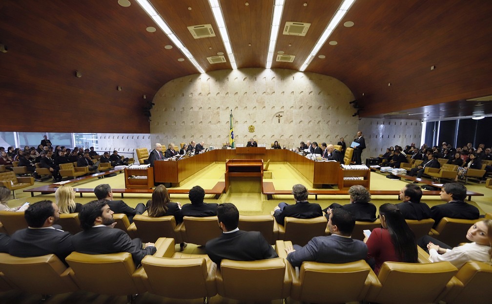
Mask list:
[[[339,80],[289,69],[217,70],[171,80],[155,94],[151,143],[229,140],[233,112],[236,144],[298,146],[301,140],[336,143],[353,138],[359,121],[349,104],[354,96]],[[278,122],[277,115],[281,115]],[[254,133],[248,126],[254,126]],[[346,140],[348,141],[348,140]]]

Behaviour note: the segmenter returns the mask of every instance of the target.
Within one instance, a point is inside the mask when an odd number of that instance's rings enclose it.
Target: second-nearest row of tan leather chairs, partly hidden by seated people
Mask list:
[[[145,213],[144,213],[145,214]],[[490,215],[488,215],[490,216]],[[205,245],[208,240],[220,236],[217,229],[217,217],[189,217],[185,216],[183,223],[177,225],[174,216],[149,217],[135,215],[130,225],[126,215],[114,214],[116,228],[122,229],[130,237],[140,237],[144,242],[154,242],[159,237],[171,237],[177,243],[188,242]],[[450,246],[466,242],[466,232],[477,220],[462,220],[444,217],[435,229],[432,229],[434,220],[406,220],[416,239],[431,235]],[[0,232],[11,235],[18,229],[27,228],[23,212],[0,211]],[[80,232],[80,222],[77,213],[61,214],[59,225],[72,234]],[[374,222],[357,221],[352,237],[364,239],[364,230],[372,230],[381,226],[377,219]],[[259,231],[270,244],[277,239],[290,240],[298,245],[306,245],[314,236],[326,236],[330,232],[327,219],[324,216],[312,219],[298,219],[286,217],[284,225],[278,225],[272,215],[240,215],[239,228],[245,231]]]

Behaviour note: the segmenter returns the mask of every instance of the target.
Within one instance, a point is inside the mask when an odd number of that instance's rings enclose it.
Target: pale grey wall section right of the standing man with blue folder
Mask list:
[[[414,142],[420,147],[422,141],[420,120],[361,118],[359,129],[364,134],[367,146],[362,154],[363,160],[384,154],[390,146],[405,148]]]

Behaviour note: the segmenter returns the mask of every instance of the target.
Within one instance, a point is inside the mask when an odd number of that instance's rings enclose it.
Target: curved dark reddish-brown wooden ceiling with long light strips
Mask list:
[[[129,1],[0,2],[0,43],[8,47],[0,53],[0,131],[149,132],[146,102],[164,83],[197,70]],[[231,68],[226,54],[226,63],[206,58],[226,53],[208,0],[151,2],[206,72]],[[274,3],[220,0],[238,68],[265,67]],[[275,55],[296,57],[274,58],[272,68],[298,70],[340,3],[285,0]],[[306,71],[344,82],[360,117],[492,114],[492,98],[465,101],[492,95],[491,16],[492,1],[484,0],[356,0],[328,39],[338,44],[327,41]],[[306,36],[283,35],[287,21],[311,26]],[[186,27],[201,24],[216,36],[194,39]],[[150,26],[157,31],[147,32]]]

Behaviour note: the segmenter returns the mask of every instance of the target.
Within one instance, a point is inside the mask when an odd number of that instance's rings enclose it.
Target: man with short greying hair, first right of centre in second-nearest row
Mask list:
[[[307,202],[307,188],[304,185],[296,184],[292,187],[295,204],[279,203],[274,209],[274,217],[278,224],[283,225],[285,217],[295,218],[314,218],[322,216],[321,206],[317,203]]]

